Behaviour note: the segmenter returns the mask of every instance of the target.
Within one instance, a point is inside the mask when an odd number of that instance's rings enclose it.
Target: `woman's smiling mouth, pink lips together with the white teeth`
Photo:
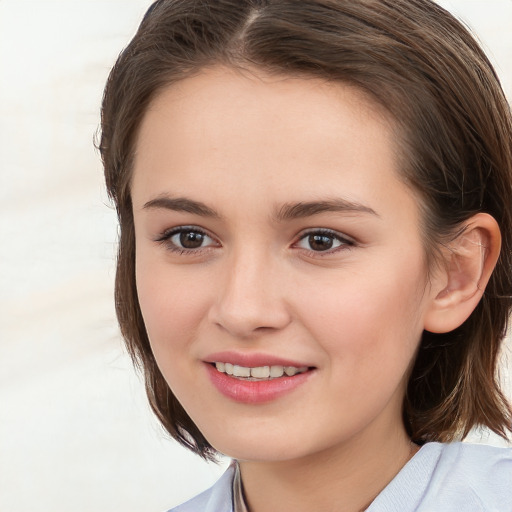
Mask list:
[[[315,373],[301,362],[264,354],[212,354],[205,361],[210,381],[225,397],[245,404],[278,400]]]

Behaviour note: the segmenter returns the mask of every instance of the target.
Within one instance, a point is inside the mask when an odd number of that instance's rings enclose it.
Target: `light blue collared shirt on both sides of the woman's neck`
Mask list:
[[[234,473],[168,512],[233,512]],[[367,512],[512,512],[512,449],[427,443]]]

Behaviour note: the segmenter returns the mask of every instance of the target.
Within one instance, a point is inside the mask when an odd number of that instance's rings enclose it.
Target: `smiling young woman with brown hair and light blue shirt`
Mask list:
[[[512,121],[429,0],[160,0],[101,154],[153,410],[232,467],[179,511],[511,511]]]

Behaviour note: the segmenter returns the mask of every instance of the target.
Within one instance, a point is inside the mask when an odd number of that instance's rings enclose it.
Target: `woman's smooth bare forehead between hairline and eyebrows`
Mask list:
[[[205,69],[163,90],[148,108],[133,193],[156,192],[165,180],[178,188],[184,181],[228,187],[242,180],[251,190],[275,193],[306,180],[325,194],[335,176],[350,192],[350,182],[366,171],[382,187],[398,178],[396,139],[390,116],[354,87]]]

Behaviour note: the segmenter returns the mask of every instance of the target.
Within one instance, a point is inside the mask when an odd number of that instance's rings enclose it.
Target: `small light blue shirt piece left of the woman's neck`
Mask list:
[[[232,512],[234,466],[231,465],[208,490],[168,512]]]

